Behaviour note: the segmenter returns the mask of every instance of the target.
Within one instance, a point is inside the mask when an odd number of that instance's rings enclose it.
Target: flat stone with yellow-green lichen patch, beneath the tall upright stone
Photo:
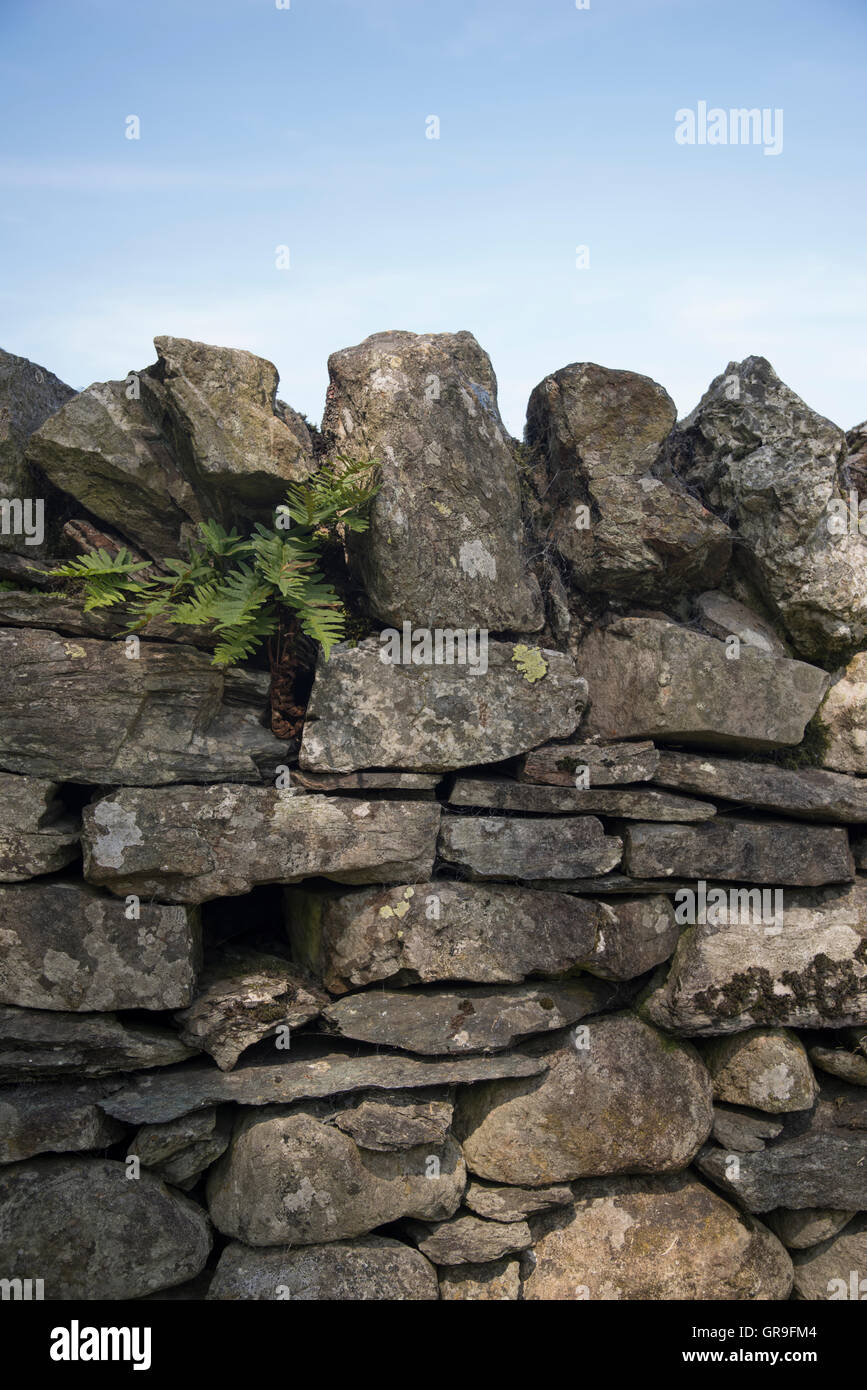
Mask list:
[[[525,652],[536,653],[538,670],[522,673]],[[388,646],[367,637],[320,659],[302,770],[442,773],[495,763],[545,738],[567,738],[586,702],[586,681],[571,657],[547,648],[489,642],[484,673],[465,664],[404,666],[383,655]]]

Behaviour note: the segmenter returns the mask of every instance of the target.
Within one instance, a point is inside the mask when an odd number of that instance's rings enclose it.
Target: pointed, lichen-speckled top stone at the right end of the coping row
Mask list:
[[[763,596],[807,659],[867,638],[867,541],[834,534],[846,496],[842,430],[764,357],[731,361],[668,442],[674,474],[731,518]]]

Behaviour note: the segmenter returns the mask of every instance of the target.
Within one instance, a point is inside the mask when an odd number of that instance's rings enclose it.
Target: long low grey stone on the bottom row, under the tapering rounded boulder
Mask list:
[[[231,1241],[220,1257],[208,1300],[290,1298],[295,1302],[371,1302],[436,1298],[436,1270],[417,1250],[385,1236],[335,1240],[300,1250],[251,1250]]]

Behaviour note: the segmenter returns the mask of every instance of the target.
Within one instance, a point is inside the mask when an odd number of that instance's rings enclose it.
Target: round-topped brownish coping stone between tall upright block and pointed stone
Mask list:
[[[731,556],[722,521],[653,464],[677,420],[649,377],[572,363],[529,398],[527,442],[542,456],[549,535],[572,582],[659,598],[718,582]],[[578,507],[589,525],[579,525]]]

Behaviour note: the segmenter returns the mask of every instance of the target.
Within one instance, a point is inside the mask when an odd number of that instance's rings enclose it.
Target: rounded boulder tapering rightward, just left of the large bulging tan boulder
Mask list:
[[[246,1245],[315,1245],[403,1216],[452,1216],[465,1182],[450,1138],[435,1150],[361,1150],[315,1108],[271,1106],[238,1120],[208,1172],[207,1200],[217,1229]]]

